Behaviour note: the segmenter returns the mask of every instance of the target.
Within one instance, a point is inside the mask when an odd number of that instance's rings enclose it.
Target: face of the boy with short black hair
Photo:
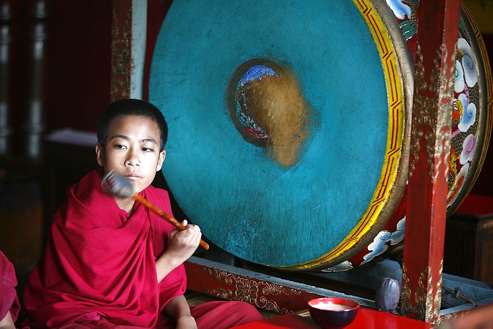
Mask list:
[[[127,115],[109,124],[106,146],[96,145],[98,164],[105,173],[113,170],[125,177],[139,193],[152,183],[161,169],[166,151],[159,152],[159,126],[153,120]]]

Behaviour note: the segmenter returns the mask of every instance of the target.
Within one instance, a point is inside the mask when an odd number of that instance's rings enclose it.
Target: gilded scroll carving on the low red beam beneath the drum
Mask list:
[[[265,281],[254,281],[246,277],[233,275],[227,271],[222,271],[215,268],[203,266],[202,270],[217,280],[225,282],[228,286],[235,285],[234,288],[236,288],[235,291],[224,288],[208,289],[204,291],[204,293],[225,299],[245,301],[254,306],[269,311],[275,311],[280,314],[288,313],[289,310],[286,308],[280,308],[276,301],[267,298],[268,295],[289,296],[293,294],[301,294],[301,290],[284,287],[282,285]]]

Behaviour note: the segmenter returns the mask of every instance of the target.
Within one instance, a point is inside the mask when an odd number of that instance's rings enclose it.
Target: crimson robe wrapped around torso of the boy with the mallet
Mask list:
[[[129,216],[100,185],[101,170],[95,170],[68,190],[67,201],[54,216],[46,250],[29,277],[24,293],[28,318],[23,325],[109,321],[162,328],[167,324],[164,306],[185,292],[183,264],[157,282],[155,262],[174,227],[138,202]],[[166,191],[149,186],[141,196],[172,215]]]

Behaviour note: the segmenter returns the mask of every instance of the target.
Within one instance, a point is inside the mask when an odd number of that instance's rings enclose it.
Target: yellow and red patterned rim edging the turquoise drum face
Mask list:
[[[366,212],[346,238],[327,254],[309,262],[276,266],[287,270],[319,270],[349,260],[368,245],[390,219],[408,177],[414,73],[409,50],[385,1],[353,0],[377,46],[388,99],[387,146],[380,180]],[[382,1],[380,1],[382,2]],[[383,17],[387,20],[384,23]],[[387,22],[388,21],[388,22]],[[386,27],[395,23],[394,31]]]

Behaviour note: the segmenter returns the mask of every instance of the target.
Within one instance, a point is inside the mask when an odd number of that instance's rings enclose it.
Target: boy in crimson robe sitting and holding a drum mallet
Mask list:
[[[70,187],[54,216],[46,250],[31,273],[24,301],[31,328],[229,328],[261,320],[250,304],[190,307],[183,262],[201,232],[174,227],[132,197],[105,194],[101,177],[124,176],[134,192],[172,215],[168,193],[150,184],[166,156],[168,128],[150,103],[122,99],[98,121],[100,168]]]

